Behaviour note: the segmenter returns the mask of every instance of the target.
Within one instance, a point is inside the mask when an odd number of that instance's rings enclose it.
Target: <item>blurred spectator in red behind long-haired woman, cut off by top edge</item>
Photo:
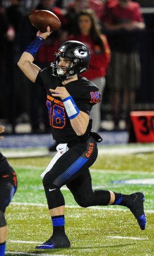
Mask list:
[[[67,16],[70,20],[69,26],[67,29],[70,34],[74,33],[74,24],[76,22],[77,15],[83,9],[92,9],[95,12],[95,15],[100,20],[102,16],[102,11],[104,9],[104,4],[100,0],[73,0],[67,6]]]

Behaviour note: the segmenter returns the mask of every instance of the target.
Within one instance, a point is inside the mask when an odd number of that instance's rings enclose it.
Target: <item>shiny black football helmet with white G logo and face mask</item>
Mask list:
[[[89,66],[90,52],[87,46],[79,41],[67,41],[54,53],[55,60],[50,64],[52,74],[58,76],[62,81],[70,77],[85,73]],[[59,57],[70,61],[69,67],[58,66]],[[66,71],[65,74],[63,74]]]

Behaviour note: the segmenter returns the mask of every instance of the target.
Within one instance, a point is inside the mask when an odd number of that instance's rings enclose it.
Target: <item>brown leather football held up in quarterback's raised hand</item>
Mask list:
[[[46,10],[32,12],[29,15],[29,20],[42,33],[47,31],[48,26],[50,27],[50,31],[55,31],[61,27],[61,21],[58,17],[53,12]]]

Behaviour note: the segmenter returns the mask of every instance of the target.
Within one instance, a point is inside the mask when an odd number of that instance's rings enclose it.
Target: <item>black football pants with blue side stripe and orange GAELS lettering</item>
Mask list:
[[[82,207],[109,203],[109,191],[92,189],[89,167],[96,161],[97,155],[97,142],[88,136],[86,142],[72,146],[57,160],[43,179],[49,209],[65,204],[60,190],[63,185],[69,188]]]

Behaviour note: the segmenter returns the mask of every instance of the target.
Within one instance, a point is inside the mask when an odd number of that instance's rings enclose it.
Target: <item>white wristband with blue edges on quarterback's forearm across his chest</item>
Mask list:
[[[64,107],[66,109],[67,115],[69,116],[70,119],[73,119],[79,115],[80,110],[76,106],[72,96],[65,98],[63,100],[63,103],[64,103]]]

